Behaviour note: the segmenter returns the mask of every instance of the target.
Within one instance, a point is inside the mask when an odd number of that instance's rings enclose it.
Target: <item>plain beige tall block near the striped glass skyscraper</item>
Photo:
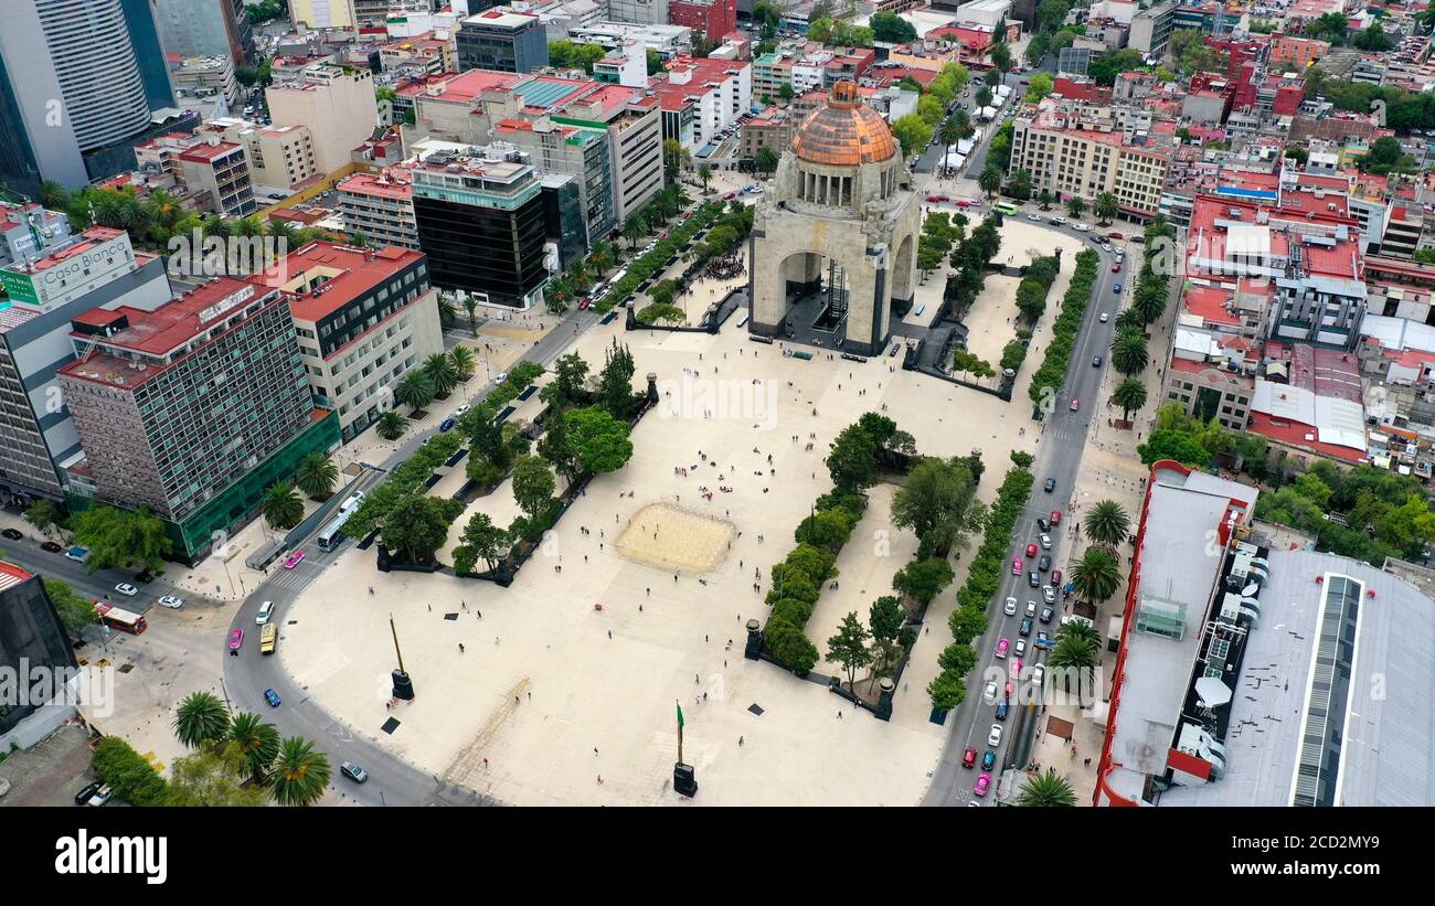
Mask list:
[[[379,105],[373,73],[319,65],[307,66],[264,92],[276,128],[307,126],[320,173],[347,166],[354,148],[373,138]]]

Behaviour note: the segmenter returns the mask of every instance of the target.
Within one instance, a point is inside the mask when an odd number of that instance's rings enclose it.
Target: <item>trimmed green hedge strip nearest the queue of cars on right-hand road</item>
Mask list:
[[[1085,252],[1082,252],[1085,254]],[[1002,573],[1006,569],[1007,546],[1012,543],[1012,530],[1016,520],[1032,495],[1032,485],[1036,476],[1029,469],[1012,466],[1002,487],[996,492],[996,502],[987,515],[986,532],[982,536],[982,546],[967,568],[967,581],[957,589],[957,608],[947,618],[953,642],[937,657],[941,672],[927,684],[927,695],[931,697],[931,707],[938,711],[950,711],[966,698],[966,675],[976,664],[976,658],[961,651],[971,648],[971,639],[982,635],[987,626],[987,606],[1002,589]],[[961,669],[964,667],[964,669]]]

